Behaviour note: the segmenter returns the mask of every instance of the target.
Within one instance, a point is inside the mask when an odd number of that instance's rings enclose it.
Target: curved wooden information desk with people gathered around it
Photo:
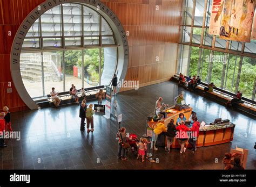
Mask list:
[[[164,111],[170,111],[170,110],[172,111],[172,113],[167,114],[167,117],[163,119],[166,127],[171,119],[173,119],[174,124],[176,124],[176,121],[179,117],[179,113],[181,112],[184,113],[184,116],[186,117],[186,119],[188,119],[191,116],[191,112],[192,112],[192,108],[187,110],[177,111],[172,107]],[[157,124],[157,121],[151,120],[147,122],[147,125],[150,128],[152,128],[152,126],[156,124]],[[200,126],[199,136],[197,139],[197,147],[213,146],[213,145],[218,145],[221,143],[232,141],[233,135],[234,135],[234,127],[235,125],[232,123]],[[188,141],[186,142],[186,146],[187,145],[188,145]],[[167,142],[166,142],[166,146],[167,146]],[[172,148],[180,147],[176,138],[174,138],[174,142],[171,147]]]

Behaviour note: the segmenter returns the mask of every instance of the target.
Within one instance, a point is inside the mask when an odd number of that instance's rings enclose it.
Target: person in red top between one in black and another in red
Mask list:
[[[178,139],[178,142],[180,145],[180,154],[186,152],[185,143],[188,139],[187,131],[189,131],[189,129],[184,124],[184,121],[180,121],[180,125],[176,127],[176,136],[175,136],[175,138]]]

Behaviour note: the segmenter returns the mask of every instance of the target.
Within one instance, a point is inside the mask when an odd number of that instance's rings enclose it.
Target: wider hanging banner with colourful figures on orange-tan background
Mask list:
[[[254,0],[224,0],[220,38],[250,42],[253,17]]]

